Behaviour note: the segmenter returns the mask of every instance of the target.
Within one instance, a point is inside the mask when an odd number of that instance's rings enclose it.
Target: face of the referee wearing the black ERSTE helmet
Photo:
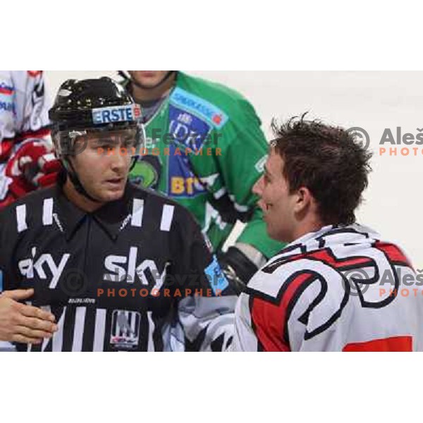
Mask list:
[[[123,196],[134,134],[135,130],[112,131],[86,135],[76,141],[84,148],[71,159],[72,164],[82,186],[96,200],[110,202]],[[78,150],[78,145],[75,149]]]

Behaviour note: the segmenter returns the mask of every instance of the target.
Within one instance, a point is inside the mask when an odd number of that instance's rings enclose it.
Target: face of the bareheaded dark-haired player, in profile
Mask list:
[[[272,148],[264,166],[264,175],[253,188],[259,195],[259,207],[263,210],[267,233],[275,240],[289,243],[295,232],[295,195],[290,195],[288,182],[284,178],[283,159]]]

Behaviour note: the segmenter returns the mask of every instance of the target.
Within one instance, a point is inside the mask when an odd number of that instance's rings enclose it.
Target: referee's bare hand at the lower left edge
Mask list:
[[[4,291],[0,295],[0,341],[38,344],[57,331],[53,314],[18,302],[32,295],[32,288]]]

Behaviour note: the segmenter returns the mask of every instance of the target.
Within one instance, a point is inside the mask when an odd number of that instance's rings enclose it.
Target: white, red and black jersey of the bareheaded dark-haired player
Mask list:
[[[422,351],[423,274],[360,225],[326,226],[273,257],[240,295],[235,351]]]

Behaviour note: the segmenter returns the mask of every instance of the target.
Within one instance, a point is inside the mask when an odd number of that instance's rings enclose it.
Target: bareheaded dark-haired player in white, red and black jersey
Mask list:
[[[423,274],[355,223],[371,154],[304,116],[274,131],[254,189],[269,235],[290,244],[240,295],[233,350],[423,350]]]

